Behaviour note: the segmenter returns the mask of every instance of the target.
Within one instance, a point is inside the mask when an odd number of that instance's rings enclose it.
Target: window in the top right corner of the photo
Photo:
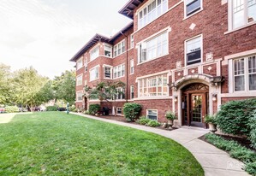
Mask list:
[[[233,29],[256,21],[256,0],[233,0],[230,3]]]

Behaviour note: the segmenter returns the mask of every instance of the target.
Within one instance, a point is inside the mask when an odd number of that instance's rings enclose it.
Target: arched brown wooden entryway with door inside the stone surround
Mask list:
[[[182,125],[206,127],[209,113],[209,86],[192,83],[182,88]]]

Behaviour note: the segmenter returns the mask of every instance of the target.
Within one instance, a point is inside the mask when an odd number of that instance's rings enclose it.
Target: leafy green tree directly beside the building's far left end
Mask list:
[[[56,99],[63,99],[66,103],[75,102],[75,72],[66,70],[61,76],[53,80]]]

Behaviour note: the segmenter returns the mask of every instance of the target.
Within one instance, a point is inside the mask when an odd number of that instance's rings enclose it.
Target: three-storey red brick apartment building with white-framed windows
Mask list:
[[[126,102],[141,115],[176,126],[205,127],[222,103],[256,97],[255,0],[129,0],[119,11],[133,19],[112,38],[96,34],[70,61],[77,68],[77,107],[85,85],[126,83]],[[101,103],[111,108],[114,103]]]

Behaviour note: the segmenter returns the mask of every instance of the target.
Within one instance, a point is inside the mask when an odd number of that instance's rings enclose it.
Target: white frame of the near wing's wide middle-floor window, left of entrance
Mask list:
[[[163,36],[166,35],[166,40],[163,40]],[[161,38],[160,41],[160,50],[161,50],[161,55],[158,55],[158,38]],[[150,46],[151,43],[153,43],[153,41],[155,40],[155,52],[153,53],[152,50],[152,54],[156,54],[155,56],[152,56],[151,59],[148,58],[148,50],[149,48],[153,48],[152,46]],[[166,50],[164,50],[164,45],[166,41]],[[146,60],[142,60],[143,53],[146,53]],[[144,62],[150,62],[152,60],[158,59],[160,57],[169,55],[169,30],[164,30],[163,32],[158,32],[157,34],[152,35],[151,38],[147,38],[145,41],[140,42],[140,44],[138,44],[138,64],[142,64]]]

